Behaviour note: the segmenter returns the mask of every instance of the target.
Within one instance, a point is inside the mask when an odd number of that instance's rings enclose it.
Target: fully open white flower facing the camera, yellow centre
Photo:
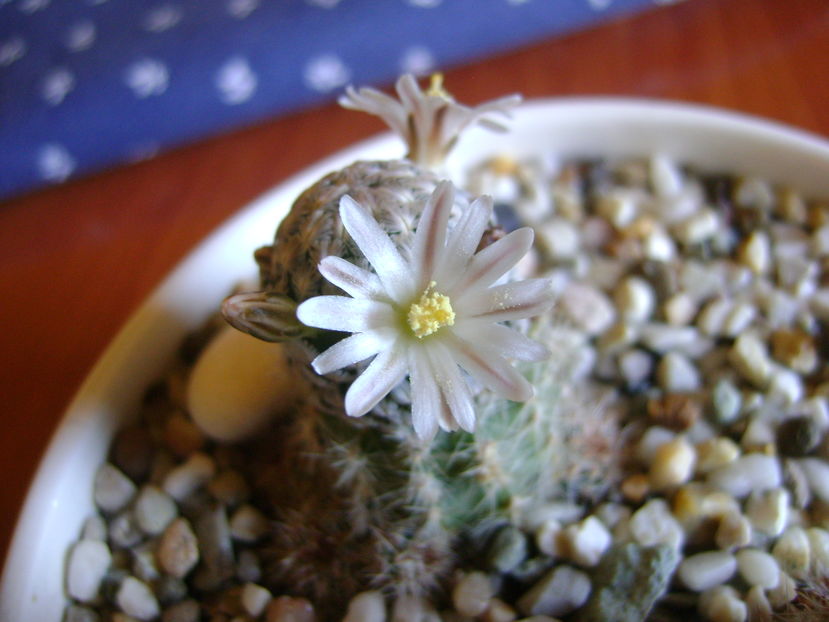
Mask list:
[[[410,260],[369,210],[344,196],[342,223],[374,272],[325,257],[320,272],[351,297],[317,296],[297,309],[308,326],[354,333],[312,361],[317,373],[374,357],[349,387],[346,413],[359,417],[371,411],[408,375],[412,422],[423,439],[433,437],[438,426],[474,430],[472,392],[463,372],[507,399],[525,401],[533,388],[508,359],[538,361],[549,355],[540,343],[498,323],[552,305],[545,279],[496,284],[530,249],[532,230],[513,231],[476,253],[492,200],[475,200],[448,231],[454,195],[450,182],[437,186],[411,248],[405,249]]]

